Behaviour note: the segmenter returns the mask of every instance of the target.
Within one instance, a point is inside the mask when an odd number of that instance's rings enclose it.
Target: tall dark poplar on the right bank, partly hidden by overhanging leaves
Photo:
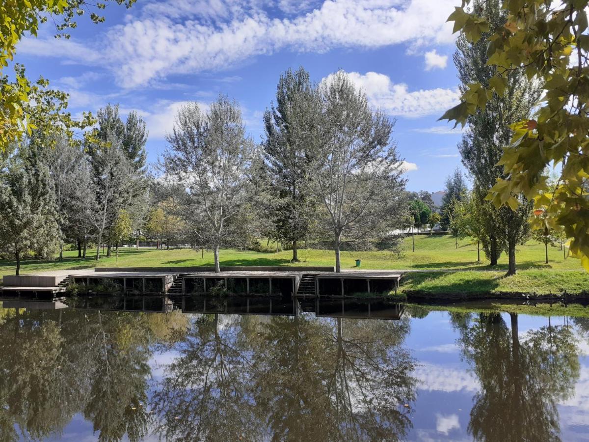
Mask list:
[[[501,0],[476,0],[472,7],[483,15],[489,24],[489,32],[503,27],[507,13]],[[497,67],[487,65],[489,33],[483,34],[477,42],[470,42],[464,34],[458,38],[458,50],[454,63],[464,93],[468,85],[479,82],[485,87],[497,73]],[[468,117],[468,130],[458,144],[462,163],[474,178],[474,197],[484,205],[482,219],[486,235],[482,238],[485,255],[491,265],[497,265],[501,250],[509,256],[508,275],[515,273],[515,246],[529,235],[528,217],[532,203],[524,196],[514,196],[509,207],[495,209],[484,198],[498,179],[505,179],[502,166],[497,166],[503,154],[503,147],[509,145],[513,135],[509,125],[521,118],[529,117],[534,105],[538,103],[541,88],[534,80],[528,80],[523,72],[507,74],[504,90],[492,94],[484,110],[478,110]],[[518,205],[519,203],[519,205]]]

